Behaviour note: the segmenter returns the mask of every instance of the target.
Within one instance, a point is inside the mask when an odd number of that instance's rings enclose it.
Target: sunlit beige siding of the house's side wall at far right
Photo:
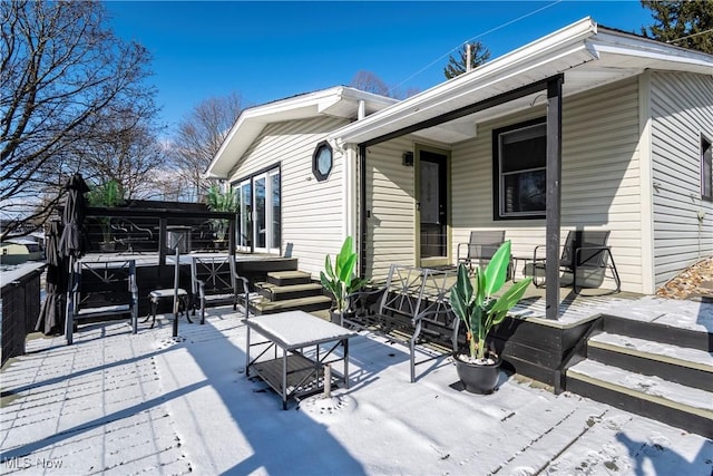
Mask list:
[[[713,204],[701,200],[701,134],[713,139],[713,76],[653,72],[651,114],[654,272],[662,285],[713,253]]]

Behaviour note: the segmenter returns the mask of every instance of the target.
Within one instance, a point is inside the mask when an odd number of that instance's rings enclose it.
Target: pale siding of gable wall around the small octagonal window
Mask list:
[[[312,118],[270,124],[231,172],[241,181],[272,165],[281,166],[282,247],[293,243],[300,270],[319,276],[324,255],[335,254],[342,244],[343,156],[334,149],[329,178],[318,182],[312,174],[314,147],[325,135],[346,124],[334,118]]]

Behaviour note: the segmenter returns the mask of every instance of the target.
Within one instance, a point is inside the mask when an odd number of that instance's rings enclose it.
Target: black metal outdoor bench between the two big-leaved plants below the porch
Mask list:
[[[351,294],[348,326],[370,329],[409,344],[411,382],[416,366],[458,350],[459,320],[449,304],[455,270],[392,264],[383,288]],[[430,357],[417,361],[416,348]]]

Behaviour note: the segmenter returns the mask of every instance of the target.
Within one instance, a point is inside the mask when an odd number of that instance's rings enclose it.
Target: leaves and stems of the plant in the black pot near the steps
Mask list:
[[[508,311],[522,298],[533,281],[527,278],[512,284],[500,298],[495,298],[507,280],[510,264],[510,241],[500,245],[488,266],[478,266],[471,278],[465,264],[458,265],[458,278],[450,291],[450,304],[467,330],[470,358],[486,359],[486,339],[492,328],[505,319]]]

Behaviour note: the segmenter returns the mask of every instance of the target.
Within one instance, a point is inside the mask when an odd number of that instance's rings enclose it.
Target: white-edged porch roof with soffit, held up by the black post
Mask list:
[[[646,69],[713,74],[713,56],[597,26],[585,18],[531,43],[518,48],[470,72],[442,82],[374,115],[330,134],[339,144],[374,144],[384,137],[413,133],[416,136],[457,143],[477,134],[476,125],[533,107],[545,100],[540,91],[505,104],[452,116],[439,117],[469,105],[565,75],[564,96],[642,74]],[[541,97],[540,97],[541,96]],[[417,127],[429,122],[423,128]],[[399,134],[402,133],[402,134]]]

